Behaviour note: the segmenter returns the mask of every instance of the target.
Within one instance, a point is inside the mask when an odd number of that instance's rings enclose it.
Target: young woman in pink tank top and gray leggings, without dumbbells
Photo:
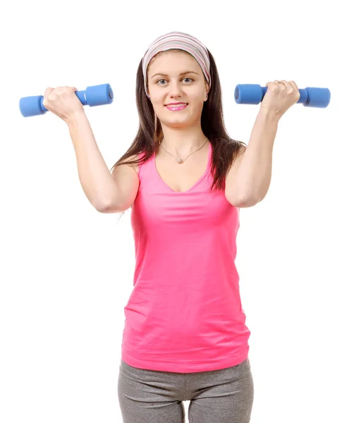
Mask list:
[[[132,208],[136,264],[118,399],[125,423],[248,423],[250,331],[235,265],[239,208],[267,193],[282,114],[300,94],[275,81],[248,146],[226,133],[214,58],[195,37],[156,39],[137,74],[138,135],[106,167],[75,87],[47,89],[68,123],[83,190],[100,212]],[[52,92],[54,91],[54,92]]]

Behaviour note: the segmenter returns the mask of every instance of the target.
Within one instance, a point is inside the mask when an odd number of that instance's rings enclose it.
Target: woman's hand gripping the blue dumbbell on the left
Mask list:
[[[75,91],[78,91],[75,87],[49,87],[44,92],[43,106],[68,123],[75,114],[84,112]]]

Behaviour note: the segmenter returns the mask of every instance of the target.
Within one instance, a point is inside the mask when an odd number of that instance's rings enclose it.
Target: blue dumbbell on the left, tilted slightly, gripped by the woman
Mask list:
[[[83,106],[102,106],[113,102],[113,90],[109,84],[93,85],[84,91],[75,91],[75,94]],[[21,114],[25,118],[46,114],[49,110],[43,106],[43,101],[44,95],[22,97],[19,102]]]

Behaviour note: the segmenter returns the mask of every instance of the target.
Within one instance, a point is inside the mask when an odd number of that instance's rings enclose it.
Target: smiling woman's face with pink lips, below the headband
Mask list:
[[[147,90],[161,123],[179,128],[200,121],[208,88],[199,63],[186,52],[165,51],[149,62]],[[166,108],[178,102],[188,106],[178,111]]]

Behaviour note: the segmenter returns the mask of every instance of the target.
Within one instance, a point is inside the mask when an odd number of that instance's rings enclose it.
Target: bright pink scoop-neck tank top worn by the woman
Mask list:
[[[248,357],[235,264],[240,211],[224,191],[210,192],[211,159],[209,144],[207,169],[185,192],[161,179],[155,154],[139,167],[136,263],[121,344],[130,366],[206,372]]]

